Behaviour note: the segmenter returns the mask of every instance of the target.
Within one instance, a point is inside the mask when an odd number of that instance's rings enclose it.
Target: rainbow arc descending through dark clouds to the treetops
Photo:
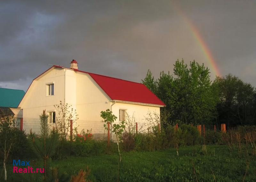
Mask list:
[[[221,74],[220,74],[220,70],[217,66],[217,63],[214,60],[214,58],[212,56],[212,52],[206,45],[203,37],[200,35],[200,32],[198,31],[196,26],[194,26],[193,23],[188,19],[186,14],[177,6],[177,4],[175,5],[175,7],[178,10],[178,12],[180,13],[180,15],[183,17],[183,19],[185,20],[186,24],[189,26],[193,36],[195,37],[196,41],[198,42],[199,46],[201,47],[201,49],[203,51],[204,56],[206,57],[207,61],[210,63],[210,71],[213,70],[213,73],[215,75],[220,76]]]

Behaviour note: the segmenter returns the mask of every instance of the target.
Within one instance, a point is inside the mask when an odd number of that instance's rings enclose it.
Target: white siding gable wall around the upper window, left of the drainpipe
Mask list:
[[[51,82],[54,82],[54,95],[47,96],[46,83]],[[54,105],[60,104],[60,100],[62,102],[64,100],[64,69],[55,68],[31,84],[28,95],[21,106],[24,118],[23,129],[27,133],[30,129],[39,133],[39,115],[43,114],[43,110],[56,111]]]

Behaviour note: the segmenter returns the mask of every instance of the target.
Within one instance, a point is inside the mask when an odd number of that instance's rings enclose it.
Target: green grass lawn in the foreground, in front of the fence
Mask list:
[[[117,181],[117,161],[118,155],[69,157],[52,161],[52,166],[69,176],[88,166],[89,179],[112,182]],[[255,157],[247,157],[247,162],[248,169],[246,159],[239,158],[235,151],[230,153],[225,145],[207,146],[207,153],[202,146],[184,147],[179,156],[176,149],[127,152],[122,153],[120,181],[256,181]]]

